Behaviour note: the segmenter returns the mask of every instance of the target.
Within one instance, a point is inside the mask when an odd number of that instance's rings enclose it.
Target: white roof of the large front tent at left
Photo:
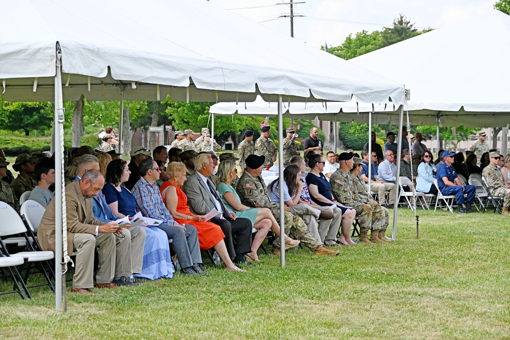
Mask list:
[[[2,9],[0,93],[10,101],[53,100],[57,42],[66,100],[118,99],[122,85],[125,99],[141,100],[403,100],[402,85],[204,0],[18,0]]]

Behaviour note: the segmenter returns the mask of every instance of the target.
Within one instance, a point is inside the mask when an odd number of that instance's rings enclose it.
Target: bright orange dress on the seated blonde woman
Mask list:
[[[181,188],[175,186],[173,183],[170,183],[168,180],[164,182],[160,187],[161,196],[163,196],[163,202],[165,202],[164,193],[169,186],[177,189],[177,213],[195,216],[190,212],[190,207],[188,206],[188,197],[184,191]],[[176,218],[174,218],[174,220],[177,223],[191,224],[196,227],[196,231],[198,233],[198,243],[200,244],[201,250],[211,249],[218,242],[225,238],[225,234],[223,231],[221,231],[220,226],[212,222],[198,222]]]

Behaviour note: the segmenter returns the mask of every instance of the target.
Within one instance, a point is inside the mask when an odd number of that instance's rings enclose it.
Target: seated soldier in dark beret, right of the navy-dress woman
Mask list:
[[[340,203],[353,207],[356,210],[356,217],[360,223],[360,241],[364,243],[379,242],[380,220],[374,221],[372,207],[369,204],[361,203],[354,199],[354,182],[347,175],[354,160],[352,152],[342,152],[339,156],[340,168],[331,174],[329,184],[331,185],[331,194]],[[375,222],[375,223],[374,223]],[[370,240],[367,238],[368,231],[372,229]]]

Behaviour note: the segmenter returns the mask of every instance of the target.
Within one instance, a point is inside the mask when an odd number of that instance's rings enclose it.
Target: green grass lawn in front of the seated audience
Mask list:
[[[285,268],[261,256],[247,274],[204,257],[206,277],[68,293],[67,313],[55,311],[47,287],[27,301],[0,296],[0,338],[508,338],[508,218],[418,214],[420,240],[401,208],[396,242],[343,247],[336,257],[291,250]]]

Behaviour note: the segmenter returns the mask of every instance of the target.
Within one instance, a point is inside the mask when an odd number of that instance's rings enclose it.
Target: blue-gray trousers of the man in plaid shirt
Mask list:
[[[191,267],[194,263],[202,263],[196,228],[189,224],[185,226],[186,232],[183,228],[173,225],[160,224],[156,226],[166,232],[168,239],[172,240],[181,268]]]

